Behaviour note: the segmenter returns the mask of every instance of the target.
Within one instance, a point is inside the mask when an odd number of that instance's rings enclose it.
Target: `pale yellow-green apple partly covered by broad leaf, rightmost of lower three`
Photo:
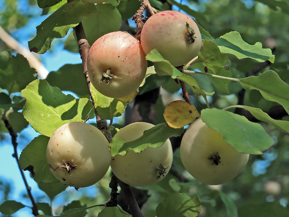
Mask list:
[[[230,181],[244,169],[249,159],[249,154],[238,152],[225,142],[220,132],[209,128],[201,118],[184,133],[180,155],[186,170],[208,185]]]

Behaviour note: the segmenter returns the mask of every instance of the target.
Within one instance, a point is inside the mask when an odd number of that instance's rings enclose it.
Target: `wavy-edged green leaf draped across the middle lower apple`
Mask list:
[[[112,143],[110,143],[110,151],[112,153],[112,157],[115,156],[116,153],[125,151],[128,148],[134,150],[136,153],[139,153],[147,147],[160,147],[169,137],[180,136],[182,132],[184,132],[183,128],[175,129],[169,127],[166,123],[158,124],[149,130],[145,130],[144,134],[134,141],[124,142],[122,139],[113,138]],[[120,148],[121,144],[123,144],[123,146]],[[126,152],[121,153],[121,155],[125,154]]]

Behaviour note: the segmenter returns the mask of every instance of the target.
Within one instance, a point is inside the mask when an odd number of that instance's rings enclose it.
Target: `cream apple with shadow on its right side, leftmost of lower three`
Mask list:
[[[69,122],[50,137],[46,159],[54,176],[66,185],[87,187],[108,171],[111,154],[108,140],[95,126]]]

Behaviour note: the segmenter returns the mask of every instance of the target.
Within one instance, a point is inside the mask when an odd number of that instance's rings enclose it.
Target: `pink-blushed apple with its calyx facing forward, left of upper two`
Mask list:
[[[126,32],[110,32],[91,46],[87,57],[91,84],[101,94],[123,98],[142,83],[147,60],[140,43]]]

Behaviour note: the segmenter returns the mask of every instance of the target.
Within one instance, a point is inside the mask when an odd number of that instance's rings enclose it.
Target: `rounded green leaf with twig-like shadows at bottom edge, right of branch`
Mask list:
[[[196,217],[201,211],[198,196],[189,197],[185,193],[174,193],[164,199],[156,208],[158,217]]]

